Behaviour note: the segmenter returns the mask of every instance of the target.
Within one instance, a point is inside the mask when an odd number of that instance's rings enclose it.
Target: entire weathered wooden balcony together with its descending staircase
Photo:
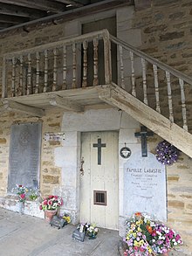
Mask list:
[[[99,44],[103,47],[99,48]],[[112,44],[115,53],[111,51]],[[102,61],[101,79],[98,66]],[[106,102],[124,110],[190,157],[191,86],[189,76],[114,38],[106,30],[3,56],[3,109],[25,111],[28,107],[29,114],[41,117],[48,106],[84,111],[85,106]]]

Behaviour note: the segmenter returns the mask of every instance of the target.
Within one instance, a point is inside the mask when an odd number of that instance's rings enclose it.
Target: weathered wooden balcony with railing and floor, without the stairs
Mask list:
[[[83,111],[105,104],[99,87],[111,82],[110,40],[97,31],[3,57],[3,109],[42,116],[62,107]]]

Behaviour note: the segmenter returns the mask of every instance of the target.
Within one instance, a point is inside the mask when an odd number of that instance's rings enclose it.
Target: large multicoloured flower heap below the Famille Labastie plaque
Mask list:
[[[182,245],[179,234],[166,225],[151,219],[145,213],[136,212],[127,220],[124,256],[152,256],[167,253],[174,246]]]

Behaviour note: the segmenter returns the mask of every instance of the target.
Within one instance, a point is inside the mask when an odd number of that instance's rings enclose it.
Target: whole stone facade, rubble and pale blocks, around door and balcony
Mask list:
[[[161,3],[160,3],[161,2]],[[185,1],[151,1],[147,8],[134,10],[134,6],[124,6],[107,10],[71,21],[60,20],[58,24],[46,24],[26,31],[12,31],[0,38],[0,68],[3,54],[27,49],[37,45],[56,42],[81,34],[81,25],[106,17],[115,17],[117,38],[134,45],[154,58],[191,75],[192,42],[192,3]],[[138,73],[139,71],[138,64]],[[127,86],[130,73],[127,72]],[[0,81],[1,83],[1,81]],[[0,86],[1,90],[1,86]],[[188,88],[189,93],[191,88]],[[176,93],[176,92],[175,92]],[[188,112],[191,100],[187,93]],[[104,121],[105,120],[105,121]],[[141,141],[134,137],[140,130],[140,123],[118,109],[90,107],[84,114],[63,110],[48,111],[45,117],[31,117],[16,112],[3,112],[0,119],[0,196],[1,205],[10,209],[6,203],[9,170],[10,126],[14,123],[41,121],[42,149],[40,167],[40,190],[42,195],[57,193],[64,198],[63,210],[72,215],[73,224],[79,222],[79,169],[80,133],[98,131],[119,131],[119,149],[124,143],[137,152]],[[192,120],[189,117],[189,130]],[[45,133],[65,133],[64,142],[45,142]],[[155,153],[155,147],[162,138],[158,135],[148,138],[148,151]],[[123,164],[119,157],[119,230],[123,235]],[[192,252],[192,167],[191,158],[181,152],[177,163],[167,167],[168,225],[181,232],[184,245],[182,251]],[[124,195],[125,196],[125,195]],[[5,199],[4,199],[5,198]],[[9,208],[10,207],[10,208]],[[38,210],[36,210],[36,215]],[[42,217],[42,215],[39,214]]]

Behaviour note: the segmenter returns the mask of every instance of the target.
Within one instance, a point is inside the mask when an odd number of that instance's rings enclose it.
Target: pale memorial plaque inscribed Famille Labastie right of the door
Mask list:
[[[147,212],[155,218],[167,220],[165,166],[148,153],[135,153],[124,165],[124,215],[136,211]]]

